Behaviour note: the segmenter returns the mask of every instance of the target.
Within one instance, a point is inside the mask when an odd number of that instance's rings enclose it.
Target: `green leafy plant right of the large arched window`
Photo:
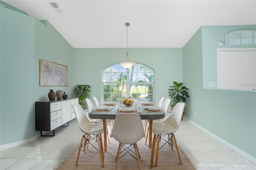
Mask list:
[[[177,83],[176,81],[173,82],[172,89],[169,89],[169,96],[172,99],[170,106],[174,107],[179,102],[185,102],[186,97],[188,98],[188,92],[186,91],[188,88],[186,86],[182,86],[183,83]]]

